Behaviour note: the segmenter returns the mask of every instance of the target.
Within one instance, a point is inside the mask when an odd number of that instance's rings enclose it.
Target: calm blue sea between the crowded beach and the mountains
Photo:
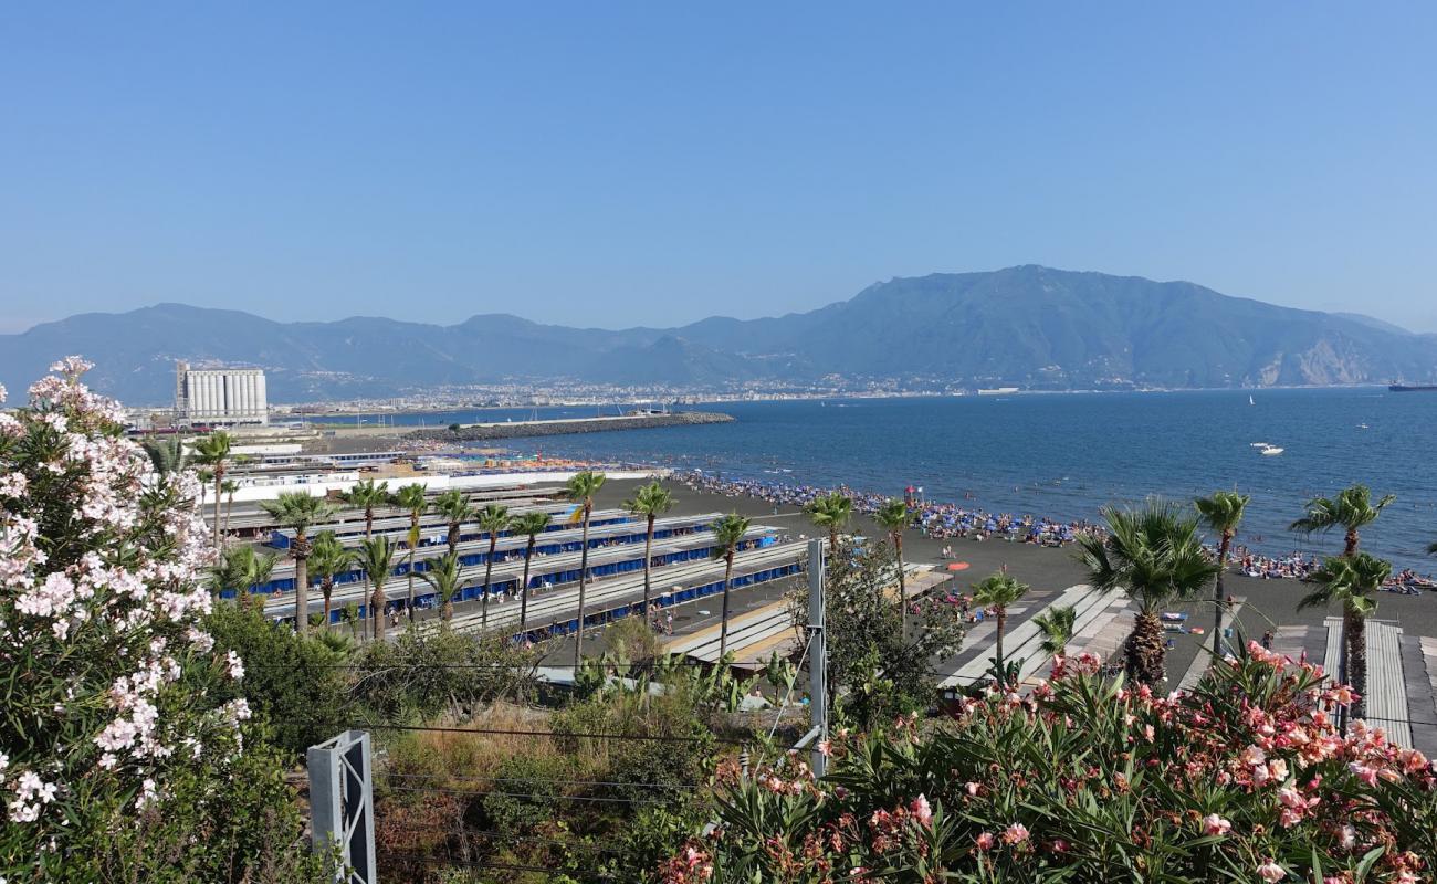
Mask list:
[[[1243,540],[1270,553],[1336,546],[1339,538],[1306,540],[1286,526],[1306,499],[1364,482],[1375,493],[1397,494],[1364,545],[1400,565],[1437,571],[1437,558],[1424,553],[1437,540],[1437,392],[1273,390],[1253,392],[1253,405],[1247,397],[1194,391],[726,402],[716,410],[737,423],[510,446],[892,494],[918,484],[935,499],[973,494],[989,510],[1065,519],[1148,494],[1190,499],[1237,487],[1253,497]],[[540,410],[540,417],[558,411]],[[523,420],[530,411],[493,414],[481,420]],[[1257,441],[1286,451],[1263,457],[1250,446]]]

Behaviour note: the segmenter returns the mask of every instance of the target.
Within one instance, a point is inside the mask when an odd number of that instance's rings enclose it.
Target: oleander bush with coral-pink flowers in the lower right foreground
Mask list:
[[[720,827],[670,884],[818,881],[1437,880],[1437,778],[1355,722],[1321,668],[1252,644],[1191,693],[1154,696],[1058,658],[1029,697],[964,703],[796,756],[724,770]]]

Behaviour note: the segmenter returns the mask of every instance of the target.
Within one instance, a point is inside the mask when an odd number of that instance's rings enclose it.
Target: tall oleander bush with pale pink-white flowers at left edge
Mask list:
[[[0,413],[0,880],[305,880],[295,795],[226,693],[243,661],[204,628],[198,483],[147,479],[86,368]]]

